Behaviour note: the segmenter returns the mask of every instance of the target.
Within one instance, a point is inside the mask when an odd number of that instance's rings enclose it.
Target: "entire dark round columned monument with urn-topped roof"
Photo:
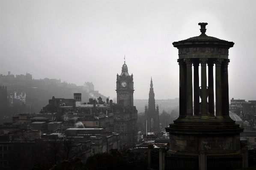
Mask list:
[[[223,168],[223,164],[235,167],[242,164],[240,167],[244,167],[246,163],[240,149],[243,128],[229,117],[229,48],[234,43],[207,36],[205,26],[208,23],[198,25],[201,26],[201,35],[173,43],[179,49],[179,118],[166,127],[170,133],[167,155],[196,156],[199,170],[219,169]],[[214,162],[213,156],[222,162]],[[228,157],[230,159],[225,159]]]

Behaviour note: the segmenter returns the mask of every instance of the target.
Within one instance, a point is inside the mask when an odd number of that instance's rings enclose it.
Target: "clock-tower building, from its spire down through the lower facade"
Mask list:
[[[137,109],[133,105],[133,75],[129,75],[124,63],[121,75],[116,75],[117,104],[113,108],[116,133],[120,133],[121,144],[134,146],[137,135]]]

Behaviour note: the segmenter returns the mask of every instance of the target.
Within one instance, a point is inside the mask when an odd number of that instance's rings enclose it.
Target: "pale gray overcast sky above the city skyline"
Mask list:
[[[256,1],[0,0],[0,73],[93,82],[116,97],[125,61],[134,99],[179,97],[174,41],[206,35],[235,43],[229,50],[229,99],[256,100]],[[254,46],[254,47],[253,47]]]

